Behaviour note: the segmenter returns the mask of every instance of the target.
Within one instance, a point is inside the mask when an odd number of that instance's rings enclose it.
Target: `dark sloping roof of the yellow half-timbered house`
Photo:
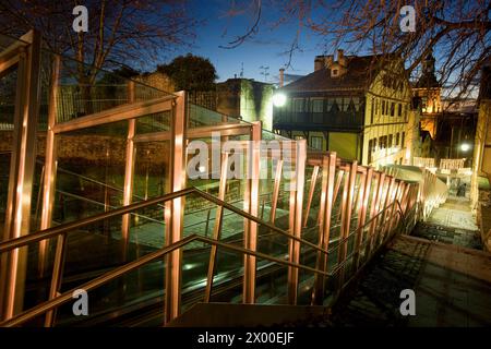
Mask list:
[[[388,57],[395,57],[388,55]],[[330,69],[323,68],[282,88],[284,92],[314,92],[314,91],[342,91],[368,88],[378,75],[382,61],[387,56],[347,56],[347,72],[339,77],[331,77]]]

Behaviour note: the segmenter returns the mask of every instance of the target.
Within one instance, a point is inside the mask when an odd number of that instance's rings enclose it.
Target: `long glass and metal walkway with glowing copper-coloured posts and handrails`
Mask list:
[[[0,326],[328,306],[441,200],[431,173],[405,182],[91,69],[35,32],[0,38]]]

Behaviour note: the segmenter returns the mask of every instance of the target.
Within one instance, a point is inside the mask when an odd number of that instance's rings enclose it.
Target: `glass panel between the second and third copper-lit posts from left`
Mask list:
[[[65,222],[122,205],[128,121],[58,136],[53,220]]]

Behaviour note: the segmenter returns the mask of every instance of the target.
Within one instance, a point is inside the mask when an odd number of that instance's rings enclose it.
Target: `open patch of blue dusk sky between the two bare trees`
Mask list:
[[[276,23],[279,14],[271,5],[265,7],[260,32],[237,48],[224,49],[220,46],[227,46],[238,35],[247,33],[253,23],[253,11],[230,17],[227,15],[229,9],[229,1],[193,1],[191,10],[205,23],[196,31],[197,36],[191,48],[167,55],[166,60],[187,52],[209,58],[217,69],[218,81],[233,77],[235,74],[239,76],[242,63],[244,77],[265,81],[265,76],[261,74],[264,70],[260,67],[270,67],[267,82],[277,82],[279,68],[285,67],[289,60],[284,52],[289,49],[295,39],[297,23],[290,22],[272,28],[272,23]],[[311,73],[314,57],[324,51],[323,39],[312,33],[304,31],[300,41],[302,51],[295,52],[291,67],[286,71],[287,74]]]

